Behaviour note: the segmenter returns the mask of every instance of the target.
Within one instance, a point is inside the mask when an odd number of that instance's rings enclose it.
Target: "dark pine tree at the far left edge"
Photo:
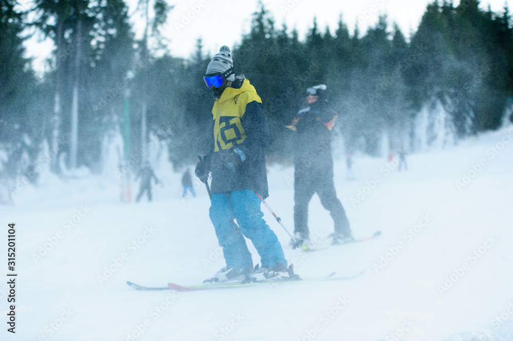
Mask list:
[[[30,60],[23,56],[25,16],[16,1],[0,0],[0,150],[7,153],[7,161],[0,161],[0,179],[13,179],[33,167],[41,142],[43,117],[34,113],[30,102],[37,92],[36,82]],[[24,153],[30,160],[25,167]],[[4,194],[0,193],[0,203],[8,200]]]

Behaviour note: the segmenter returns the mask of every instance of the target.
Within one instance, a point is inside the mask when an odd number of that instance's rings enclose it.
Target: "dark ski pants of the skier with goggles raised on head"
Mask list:
[[[335,233],[351,235],[346,212],[337,198],[333,175],[319,173],[296,173],[294,176],[294,233],[299,233],[302,238],[308,238],[308,204],[314,193],[319,195],[322,206],[331,214]]]

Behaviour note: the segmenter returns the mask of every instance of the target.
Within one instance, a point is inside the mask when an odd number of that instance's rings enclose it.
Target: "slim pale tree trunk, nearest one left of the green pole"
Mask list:
[[[81,13],[78,13],[76,22],[76,52],[75,52],[75,75],[73,84],[73,99],[71,104],[71,134],[70,134],[70,151],[69,151],[69,167],[76,168],[76,150],[78,144],[78,84],[80,81],[80,53],[81,53],[81,31],[82,19]]]

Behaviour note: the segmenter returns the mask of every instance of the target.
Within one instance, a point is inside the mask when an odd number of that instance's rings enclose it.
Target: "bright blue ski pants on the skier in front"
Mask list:
[[[262,266],[287,265],[278,237],[262,218],[260,203],[260,198],[251,190],[212,194],[210,220],[223,248],[226,266],[239,272],[253,268],[244,237],[251,239]],[[239,226],[233,219],[237,219]]]

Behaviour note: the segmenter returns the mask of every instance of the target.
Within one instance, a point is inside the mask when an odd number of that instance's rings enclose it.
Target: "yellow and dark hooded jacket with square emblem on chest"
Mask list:
[[[244,76],[215,99],[212,108],[213,146],[206,156],[212,172],[212,193],[250,189],[268,196],[264,149],[269,126],[262,99]],[[246,155],[235,173],[226,167],[226,154],[239,148]]]

